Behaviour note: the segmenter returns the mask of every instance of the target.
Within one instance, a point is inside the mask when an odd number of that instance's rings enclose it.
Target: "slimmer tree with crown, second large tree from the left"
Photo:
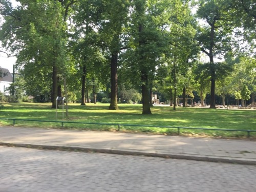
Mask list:
[[[75,62],[77,63],[78,80],[81,86],[81,105],[86,105],[86,84],[92,73],[98,69],[103,61],[103,53],[99,45],[100,39],[97,32],[98,25],[102,19],[102,10],[104,10],[103,1],[79,1],[74,7],[75,15],[72,17],[74,23],[72,41],[70,47],[73,49]],[[97,59],[96,59],[97,58]],[[100,76],[100,75],[98,75]],[[81,83],[80,83],[81,82]]]

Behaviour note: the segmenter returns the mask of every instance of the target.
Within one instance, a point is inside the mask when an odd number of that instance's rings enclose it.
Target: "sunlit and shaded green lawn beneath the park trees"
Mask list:
[[[62,121],[62,109],[51,109],[51,103],[3,103],[0,118]],[[203,127],[232,130],[256,130],[256,110],[223,110],[205,108],[173,108],[154,106],[153,115],[142,115],[141,104],[119,104],[118,111],[108,110],[109,104],[88,103],[81,106],[69,103],[69,116],[63,121],[86,123],[115,123],[153,126]],[[60,108],[62,105],[60,105]],[[12,120],[1,120],[1,125],[12,125]],[[61,123],[38,121],[15,121],[15,126],[60,128]],[[117,131],[117,125],[64,123],[66,129]],[[177,134],[177,129],[150,126],[120,126],[122,132],[143,132],[152,134]],[[246,137],[246,132],[205,131],[181,129],[181,135],[211,137]],[[251,133],[256,137],[256,133]]]

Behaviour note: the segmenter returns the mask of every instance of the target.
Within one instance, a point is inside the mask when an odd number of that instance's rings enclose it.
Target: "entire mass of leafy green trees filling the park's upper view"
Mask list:
[[[188,96],[204,105],[210,93],[210,108],[217,95],[222,104],[227,94],[245,100],[245,86],[255,100],[252,1],[195,1],[195,15],[181,0],[18,2],[0,0],[0,40],[17,56],[25,95],[52,100],[53,108],[65,82],[72,101],[96,103],[104,92],[109,109],[141,100],[142,114],[151,114],[156,93],[174,109],[178,96],[183,106]],[[247,42],[246,53],[235,37]],[[207,61],[199,61],[199,50]]]

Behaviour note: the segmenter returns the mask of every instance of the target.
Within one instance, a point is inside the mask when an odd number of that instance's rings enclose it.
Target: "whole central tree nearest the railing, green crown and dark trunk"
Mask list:
[[[172,17],[172,11],[175,11],[174,5],[179,2],[134,1],[131,22],[133,30],[131,36],[134,38],[132,40],[134,50],[132,61],[134,71],[140,73],[142,114],[152,114],[149,96],[150,82],[154,80],[156,67],[160,65],[161,57],[166,53],[169,19]]]

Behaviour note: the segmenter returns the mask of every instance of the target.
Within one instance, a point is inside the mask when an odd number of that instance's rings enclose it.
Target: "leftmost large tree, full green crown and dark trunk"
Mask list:
[[[63,17],[69,6],[62,4],[62,7],[56,1],[30,0],[20,1],[16,8],[8,0],[1,4],[0,11],[5,20],[0,31],[3,46],[17,54],[20,68],[26,68],[27,63],[52,68],[51,99],[52,108],[55,108],[55,98],[61,96],[59,69],[66,60],[67,25]]]

